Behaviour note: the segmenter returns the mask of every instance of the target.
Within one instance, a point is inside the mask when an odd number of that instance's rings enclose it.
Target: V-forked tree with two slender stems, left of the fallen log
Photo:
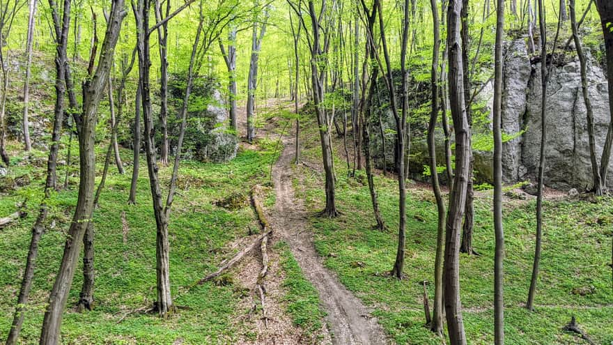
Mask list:
[[[222,30],[230,22],[230,14],[238,6],[238,2],[231,1],[231,3],[228,4],[226,1],[220,0],[216,3],[216,5],[217,7],[211,10],[209,13],[210,16],[208,17],[205,17],[203,14],[202,2],[199,6],[199,25],[198,29],[196,29],[196,38],[194,40],[194,45],[192,45],[192,55],[189,59],[189,67],[187,69],[187,86],[183,98],[183,105],[180,109],[181,124],[173,164],[173,172],[171,175],[169,191],[166,196],[166,201],[164,202],[162,200],[162,187],[160,184],[160,177],[158,176],[159,168],[157,167],[157,159],[155,155],[155,127],[153,126],[153,112],[150,100],[150,45],[148,37],[155,29],[157,29],[157,26],[164,24],[164,20],[170,20],[181,10],[187,8],[187,6],[189,6],[189,2],[185,3],[173,13],[166,16],[162,22],[158,21],[155,26],[151,28],[149,28],[150,0],[139,0],[137,6],[132,4],[134,17],[137,20],[139,87],[141,91],[143,122],[145,127],[145,153],[147,158],[147,171],[151,196],[153,199],[153,213],[155,215],[157,234],[155,251],[157,301],[155,301],[155,309],[162,318],[166,318],[169,314],[176,311],[176,307],[173,305],[170,290],[170,244],[168,226],[172,203],[176,192],[176,181],[178,177],[181,148],[183,146],[183,137],[185,135],[185,126],[187,123],[189,96],[192,93],[194,77],[196,77],[202,66],[203,57],[208,53],[210,45],[217,41],[222,33]],[[204,26],[204,24],[207,25]]]

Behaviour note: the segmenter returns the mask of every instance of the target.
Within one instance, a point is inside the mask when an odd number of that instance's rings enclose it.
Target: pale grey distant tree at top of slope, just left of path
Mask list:
[[[266,33],[266,24],[270,17],[269,6],[265,6],[263,18],[260,19],[260,5],[258,0],[254,0],[254,26],[251,34],[251,60],[249,60],[249,77],[247,79],[247,141],[250,143],[256,137],[255,111],[256,111],[256,89],[258,87],[258,61],[262,40]]]

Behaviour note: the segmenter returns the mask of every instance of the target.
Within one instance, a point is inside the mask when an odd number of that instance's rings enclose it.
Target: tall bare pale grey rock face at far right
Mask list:
[[[503,129],[505,132],[524,130],[523,135],[504,144],[504,178],[509,182],[534,178],[538,171],[541,145],[541,63],[530,65],[525,50],[522,41],[511,43],[505,63]],[[527,72],[528,69],[530,72]],[[596,153],[600,161],[611,118],[607,79],[605,70],[590,54],[587,54],[587,71],[595,122]],[[560,189],[589,188],[592,183],[587,115],[581,89],[580,65],[576,57],[564,65],[552,67],[547,99],[545,184]],[[613,164],[609,169],[613,169]]]

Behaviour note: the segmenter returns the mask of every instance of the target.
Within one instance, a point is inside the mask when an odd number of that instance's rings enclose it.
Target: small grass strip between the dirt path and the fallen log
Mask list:
[[[317,290],[302,275],[302,269],[298,266],[287,243],[279,242],[274,249],[279,251],[281,267],[286,274],[283,282],[284,288],[288,291],[285,301],[293,323],[309,333],[320,330],[321,321],[326,314],[320,307]]]

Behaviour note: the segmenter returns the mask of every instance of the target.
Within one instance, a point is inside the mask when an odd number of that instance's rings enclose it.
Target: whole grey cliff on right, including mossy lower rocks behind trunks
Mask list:
[[[587,50],[587,49],[585,49]],[[566,190],[591,187],[591,163],[587,136],[586,109],[581,90],[580,65],[577,57],[567,54],[570,61],[554,64],[548,82],[548,100],[545,106],[548,130],[545,151],[545,185]],[[606,72],[587,52],[589,95],[593,107],[598,161],[603,150],[610,122],[609,94]],[[492,82],[483,86],[477,97],[483,111],[489,114],[493,89]],[[541,145],[541,62],[532,63],[524,40],[513,40],[505,45],[504,95],[502,100],[502,130],[507,137],[502,154],[503,178],[506,183],[534,180],[538,171]],[[384,116],[384,128],[395,128],[391,116]],[[440,124],[439,124],[440,128]],[[372,131],[373,135],[378,129]],[[491,121],[474,123],[473,141],[491,137]],[[444,164],[442,130],[437,129],[437,160]],[[513,138],[513,139],[511,139]],[[453,135],[452,135],[453,139]],[[380,154],[380,139],[373,138],[373,155]],[[387,166],[393,167],[394,144],[386,140]],[[411,140],[411,175],[424,178],[424,165],[428,164],[426,132],[416,128]],[[492,152],[474,150],[475,177],[479,183],[492,183]],[[608,183],[613,182],[613,162],[610,164]],[[444,178],[444,174],[441,176]]]

